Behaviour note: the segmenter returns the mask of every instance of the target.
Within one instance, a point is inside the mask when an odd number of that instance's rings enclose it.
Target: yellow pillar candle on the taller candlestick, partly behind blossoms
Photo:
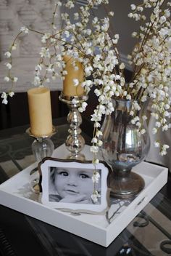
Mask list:
[[[63,84],[63,94],[66,96],[81,96],[84,94],[84,89],[81,86],[81,83],[84,79],[83,65],[76,61],[76,66],[78,70],[75,70],[75,67],[72,65],[73,58],[64,55],[63,57],[66,66],[64,68],[67,71],[67,75],[64,76],[64,84]],[[75,86],[73,79],[78,79],[79,84]]]

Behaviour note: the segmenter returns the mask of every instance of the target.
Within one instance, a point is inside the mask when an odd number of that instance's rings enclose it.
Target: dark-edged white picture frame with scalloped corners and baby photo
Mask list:
[[[38,164],[38,169],[42,204],[72,213],[101,214],[108,209],[107,177],[110,168],[106,162],[96,164],[98,182],[93,178],[95,168],[92,161],[46,157]],[[95,201],[94,193],[97,195]]]

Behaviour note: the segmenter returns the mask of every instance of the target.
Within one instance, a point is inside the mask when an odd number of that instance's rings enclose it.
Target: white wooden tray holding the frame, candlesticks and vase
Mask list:
[[[91,159],[88,146],[84,153]],[[88,155],[89,154],[89,155]],[[64,145],[54,151],[53,157],[64,158],[67,151]],[[133,168],[145,180],[145,188],[133,200],[111,199],[112,205],[104,215],[72,215],[41,204],[40,197],[32,191],[33,180],[38,173],[30,175],[36,163],[24,169],[0,185],[0,204],[15,209],[38,220],[62,228],[85,239],[108,247],[109,244],[126,228],[138,212],[148,204],[155,194],[167,183],[167,168],[142,162]]]

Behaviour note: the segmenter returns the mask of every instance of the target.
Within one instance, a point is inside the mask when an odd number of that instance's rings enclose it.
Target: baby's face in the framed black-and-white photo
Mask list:
[[[62,198],[84,195],[86,200],[91,199],[93,193],[92,176],[91,169],[57,169],[54,173],[54,183]]]

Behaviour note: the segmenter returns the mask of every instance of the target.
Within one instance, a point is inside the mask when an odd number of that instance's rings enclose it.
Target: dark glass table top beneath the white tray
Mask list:
[[[0,183],[35,162],[33,138],[17,127],[0,132]],[[68,124],[57,121],[55,148],[68,135]],[[83,134],[86,142],[90,138]],[[109,247],[101,247],[67,231],[7,207],[0,207],[0,255],[171,255],[171,182],[138,214]]]

